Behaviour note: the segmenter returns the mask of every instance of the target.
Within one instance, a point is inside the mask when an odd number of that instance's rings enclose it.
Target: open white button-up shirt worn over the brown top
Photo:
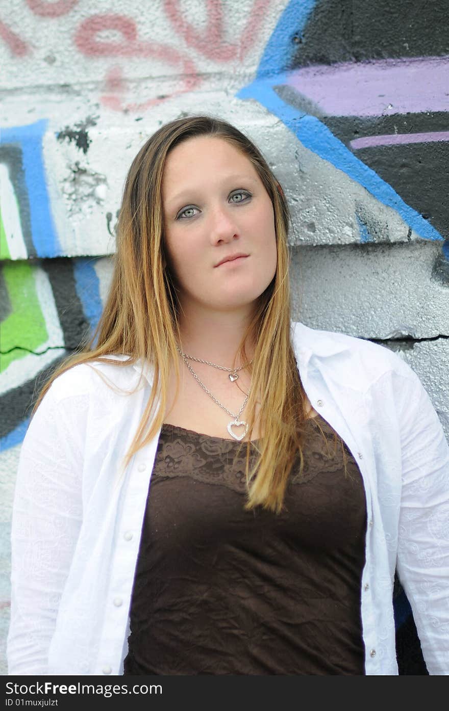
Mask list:
[[[302,385],[344,439],[366,493],[361,620],[366,674],[397,674],[393,579],[430,674],[449,673],[449,448],[418,377],[395,353],[292,324]],[[144,372],[141,385],[131,394]],[[76,365],[23,441],[12,523],[10,674],[121,674],[159,433],[124,469],[148,402],[141,363]],[[300,673],[300,670],[298,670]]]

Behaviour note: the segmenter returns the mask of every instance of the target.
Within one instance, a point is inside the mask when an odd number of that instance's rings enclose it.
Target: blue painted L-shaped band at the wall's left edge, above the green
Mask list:
[[[16,144],[22,151],[25,185],[30,205],[31,239],[38,257],[57,257],[61,254],[56,229],[51,215],[46,175],[42,159],[42,137],[48,121],[42,119],[27,126],[3,129],[2,143]]]

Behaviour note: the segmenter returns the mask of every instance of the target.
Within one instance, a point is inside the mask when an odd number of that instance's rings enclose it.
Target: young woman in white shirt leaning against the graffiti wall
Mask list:
[[[288,211],[218,119],[127,176],[96,341],[44,388],[11,674],[396,674],[395,569],[449,673],[449,449],[391,351],[290,321]]]

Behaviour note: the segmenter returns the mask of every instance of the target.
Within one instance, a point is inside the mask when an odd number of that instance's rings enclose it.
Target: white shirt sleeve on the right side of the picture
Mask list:
[[[413,371],[401,398],[402,493],[396,567],[428,672],[449,674],[449,447]]]

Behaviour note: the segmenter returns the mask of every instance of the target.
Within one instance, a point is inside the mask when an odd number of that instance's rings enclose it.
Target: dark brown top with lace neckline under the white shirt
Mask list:
[[[163,425],[125,675],[364,674],[364,488],[329,424],[307,428],[275,515],[243,510],[246,447],[232,466],[238,442]]]

